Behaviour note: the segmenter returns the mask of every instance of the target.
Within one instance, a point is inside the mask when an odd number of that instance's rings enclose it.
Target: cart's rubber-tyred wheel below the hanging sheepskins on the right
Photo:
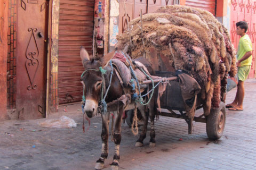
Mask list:
[[[221,101],[220,107],[211,109],[211,113],[207,116],[206,133],[209,139],[220,139],[225,128],[226,123],[226,108]]]

